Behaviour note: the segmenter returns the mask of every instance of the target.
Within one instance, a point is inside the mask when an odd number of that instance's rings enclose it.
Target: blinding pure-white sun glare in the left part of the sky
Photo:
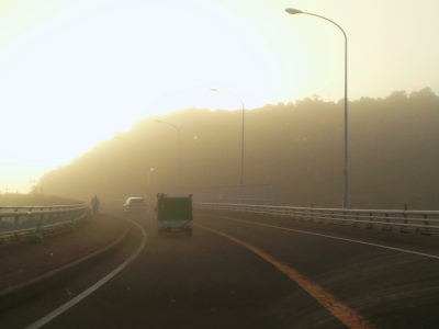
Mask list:
[[[19,38],[2,67],[10,125],[0,134],[14,135],[13,149],[31,144],[30,157],[65,163],[142,116],[239,109],[230,92],[255,106],[274,92],[269,54],[228,8],[81,5]],[[228,93],[212,94],[212,86]]]

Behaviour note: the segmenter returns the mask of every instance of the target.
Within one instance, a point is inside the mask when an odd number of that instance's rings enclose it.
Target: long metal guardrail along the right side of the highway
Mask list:
[[[301,222],[335,224],[368,229],[398,230],[421,235],[439,235],[439,212],[397,209],[307,208],[232,203],[194,203],[198,208],[243,212]]]

